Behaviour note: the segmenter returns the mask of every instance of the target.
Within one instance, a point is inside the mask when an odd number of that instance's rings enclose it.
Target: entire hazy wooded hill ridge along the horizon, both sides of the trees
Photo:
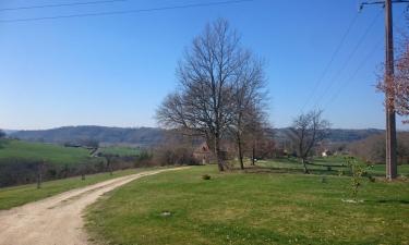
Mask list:
[[[289,128],[276,128],[275,138],[278,142],[288,139]],[[330,130],[328,140],[332,143],[351,143],[369,136],[382,134],[383,130]],[[166,131],[158,127],[106,127],[106,126],[64,126],[44,131],[17,131],[10,136],[29,142],[53,144],[82,144],[84,140],[97,140],[105,145],[133,145],[149,147],[163,143]]]

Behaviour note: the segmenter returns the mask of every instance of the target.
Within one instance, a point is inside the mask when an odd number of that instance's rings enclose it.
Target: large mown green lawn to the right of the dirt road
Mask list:
[[[349,184],[337,175],[193,167],[107,194],[87,210],[87,229],[101,244],[121,245],[409,244],[409,183],[365,181],[360,204],[341,201]]]

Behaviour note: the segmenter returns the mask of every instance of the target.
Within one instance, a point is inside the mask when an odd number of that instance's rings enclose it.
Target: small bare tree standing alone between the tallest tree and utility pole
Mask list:
[[[304,168],[304,173],[309,173],[306,158],[313,147],[321,143],[327,135],[329,122],[322,119],[322,110],[313,110],[309,113],[298,115],[292,123],[291,138],[298,148],[298,155]]]

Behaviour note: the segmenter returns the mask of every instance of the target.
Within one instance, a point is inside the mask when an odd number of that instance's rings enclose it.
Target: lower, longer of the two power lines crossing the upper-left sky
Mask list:
[[[165,10],[178,10],[178,9],[189,9],[189,8],[200,8],[200,7],[227,5],[227,4],[236,4],[236,3],[252,2],[252,1],[255,1],[255,0],[229,0],[229,1],[218,1],[218,2],[206,2],[206,3],[183,4],[183,5],[160,7],[160,8],[151,8],[151,9],[108,11],[108,12],[56,15],[56,16],[44,16],[44,17],[11,19],[11,20],[0,20],[0,23],[36,22],[36,21],[48,21],[48,20],[59,20],[59,19],[119,15],[119,14],[131,14],[131,13],[154,12],[154,11],[165,11]]]

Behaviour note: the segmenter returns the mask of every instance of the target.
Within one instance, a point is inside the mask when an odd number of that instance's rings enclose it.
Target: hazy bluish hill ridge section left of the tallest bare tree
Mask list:
[[[97,140],[100,144],[153,146],[164,139],[165,131],[156,127],[106,127],[106,126],[64,126],[44,131],[19,131],[11,134],[29,142],[55,144],[81,144]]]

